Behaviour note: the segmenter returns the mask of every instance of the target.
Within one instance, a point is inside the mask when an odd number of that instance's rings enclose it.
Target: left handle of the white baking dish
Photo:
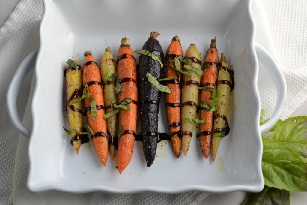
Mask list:
[[[35,66],[38,49],[30,53],[19,65],[6,94],[6,107],[15,128],[24,136],[30,136],[31,131],[23,126],[17,112],[17,96],[25,76]]]

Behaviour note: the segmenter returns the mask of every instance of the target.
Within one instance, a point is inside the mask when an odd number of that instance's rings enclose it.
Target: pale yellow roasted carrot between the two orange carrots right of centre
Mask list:
[[[200,77],[202,75],[201,70],[201,57],[200,52],[196,48],[196,45],[191,43],[185,53],[185,58],[191,59],[190,63],[185,63],[184,71],[188,72],[189,75],[183,74],[182,79],[182,97],[181,97],[181,130],[182,130],[182,150],[185,156],[188,153],[190,147],[190,142],[192,138],[192,132],[194,129],[194,122],[184,122],[185,118],[195,119],[196,108],[198,104],[198,94],[199,94],[199,83]],[[197,74],[189,70],[188,68],[195,68]]]

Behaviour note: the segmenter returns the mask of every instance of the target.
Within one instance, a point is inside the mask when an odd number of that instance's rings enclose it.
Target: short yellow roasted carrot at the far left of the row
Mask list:
[[[79,153],[82,134],[77,133],[83,131],[82,112],[81,112],[81,96],[82,96],[82,71],[79,61],[71,59],[67,61],[69,64],[66,68],[66,101],[68,122],[72,134],[72,144],[76,153]],[[76,101],[76,102],[75,102]]]

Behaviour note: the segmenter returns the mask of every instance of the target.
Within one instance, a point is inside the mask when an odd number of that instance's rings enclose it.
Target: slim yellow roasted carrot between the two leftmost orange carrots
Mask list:
[[[114,57],[110,48],[106,48],[103,56],[101,57],[100,69],[103,81],[103,97],[104,104],[106,105],[106,113],[110,113],[115,110],[111,99],[116,99],[115,80],[117,76]],[[113,115],[107,118],[109,151],[112,159],[115,157],[115,150],[117,146],[116,125],[117,115]]]

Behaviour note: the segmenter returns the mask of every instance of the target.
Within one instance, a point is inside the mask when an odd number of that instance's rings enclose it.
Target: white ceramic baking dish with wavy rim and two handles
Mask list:
[[[31,53],[18,68],[7,94],[11,120],[29,143],[31,191],[104,191],[110,193],[184,191],[251,191],[264,186],[261,133],[277,121],[286,98],[286,83],[272,57],[255,43],[250,0],[227,1],[120,1],[44,0],[41,45],[35,73],[32,131],[21,124],[16,98],[21,82],[35,61]],[[217,37],[217,49],[228,57],[235,73],[228,120],[231,132],[221,140],[217,160],[212,163],[201,153],[194,132],[188,155],[173,156],[168,141],[158,145],[150,168],[144,161],[142,144],[135,142],[129,166],[120,175],[116,160],[109,157],[103,167],[91,142],[76,155],[62,126],[68,127],[64,100],[64,67],[68,58],[83,61],[92,51],[100,64],[105,47],[116,55],[120,39],[127,36],[132,49],[140,49],[150,31],[160,32],[158,40],[166,51],[179,35],[183,50],[195,43],[204,57],[210,39]],[[258,60],[267,67],[277,90],[277,105],[271,119],[259,126],[260,99],[257,89]],[[138,59],[138,56],[136,56]],[[167,132],[163,97],[159,131]],[[197,127],[197,126],[196,126]]]

